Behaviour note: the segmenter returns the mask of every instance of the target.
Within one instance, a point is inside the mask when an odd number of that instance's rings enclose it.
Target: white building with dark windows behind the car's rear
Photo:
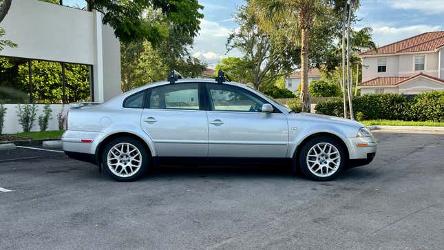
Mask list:
[[[10,10],[0,23],[0,27],[6,30],[6,35],[2,39],[18,45],[17,48],[2,50],[0,52],[2,58],[20,59],[25,63],[28,62],[30,66],[32,61],[60,63],[63,65],[61,66],[63,79],[65,79],[65,63],[87,65],[89,101],[103,102],[121,93],[120,42],[116,39],[114,30],[103,25],[101,12],[80,10],[39,0],[16,0],[12,1]],[[32,79],[29,78],[29,90],[21,91],[28,92],[23,93],[24,96],[28,95],[30,102],[37,103],[38,100],[33,100]],[[3,82],[8,83],[8,80],[3,79]],[[1,87],[0,85],[0,89]],[[65,87],[63,82],[64,97]],[[73,88],[70,91],[75,92],[75,86],[71,87]],[[5,89],[7,87],[3,86],[3,90]],[[66,103],[66,99],[63,102]],[[3,133],[21,132],[17,121],[16,104],[7,102],[6,107],[8,110]],[[42,110],[43,107],[39,107],[39,114]],[[57,129],[55,112],[61,110],[61,105],[54,104],[52,110],[50,130]],[[34,125],[32,130],[38,129],[39,127]]]

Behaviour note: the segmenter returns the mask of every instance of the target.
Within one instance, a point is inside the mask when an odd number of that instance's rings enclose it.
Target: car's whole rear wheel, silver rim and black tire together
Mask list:
[[[118,137],[105,145],[102,152],[102,164],[114,180],[136,180],[147,171],[149,154],[140,140]]]

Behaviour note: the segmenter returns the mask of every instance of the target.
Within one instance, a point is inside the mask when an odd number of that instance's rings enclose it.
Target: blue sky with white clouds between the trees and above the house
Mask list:
[[[200,0],[204,19],[191,49],[194,56],[215,67],[226,54],[226,38],[237,28],[235,10],[243,0]],[[361,0],[359,21],[352,28],[370,27],[377,45],[393,43],[427,31],[444,30],[444,0]],[[84,0],[63,0],[65,4],[84,5]]]

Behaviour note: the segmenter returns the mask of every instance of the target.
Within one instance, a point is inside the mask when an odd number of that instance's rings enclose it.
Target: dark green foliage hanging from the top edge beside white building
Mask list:
[[[176,32],[195,37],[200,30],[200,19],[204,17],[199,12],[203,7],[198,0],[85,1],[89,8],[103,13],[103,23],[114,28],[114,34],[120,41],[146,39],[154,47],[168,37],[169,25],[175,26]],[[160,21],[159,17],[145,21],[145,17],[152,17],[147,12],[160,14]]]

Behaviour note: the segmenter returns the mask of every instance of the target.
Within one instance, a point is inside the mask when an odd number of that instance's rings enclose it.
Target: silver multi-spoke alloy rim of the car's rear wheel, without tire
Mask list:
[[[142,166],[142,154],[131,143],[118,143],[107,154],[109,170],[118,177],[134,176]]]

